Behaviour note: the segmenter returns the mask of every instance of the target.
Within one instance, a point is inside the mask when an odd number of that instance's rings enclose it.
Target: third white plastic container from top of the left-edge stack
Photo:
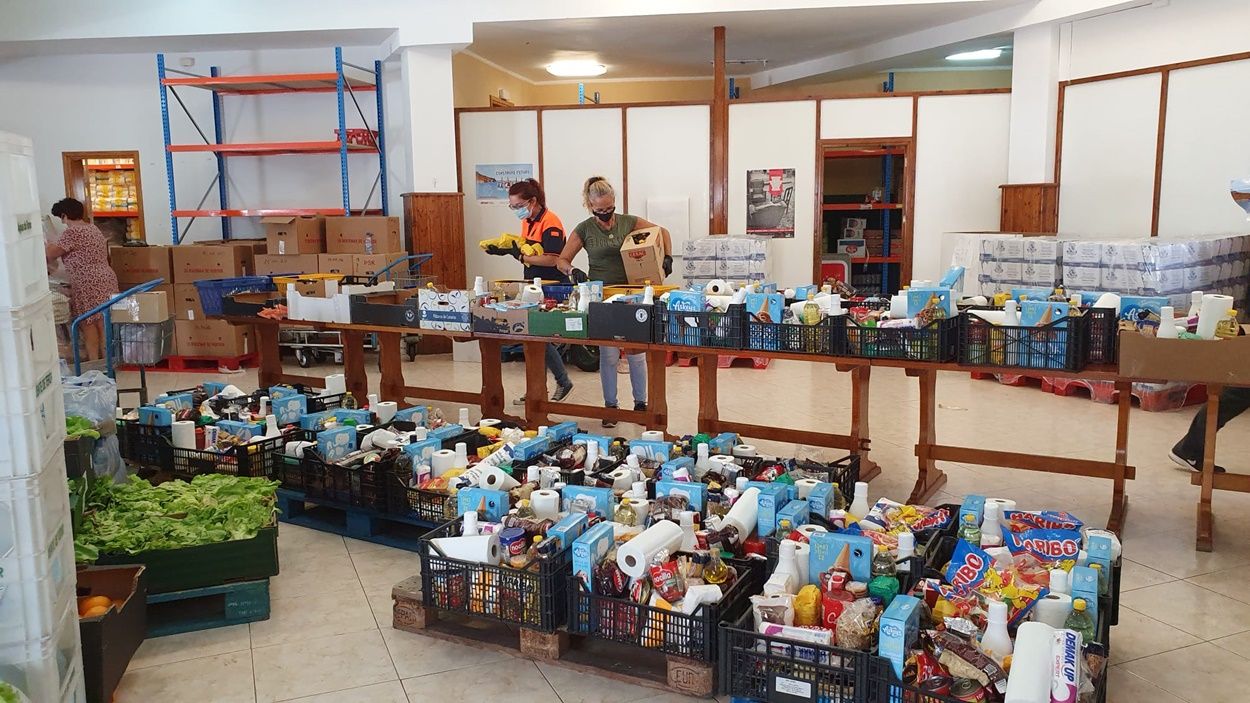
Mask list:
[[[51,555],[69,535],[69,514],[65,450],[59,448],[38,474],[0,480],[0,559]],[[9,575],[0,574],[0,583]]]

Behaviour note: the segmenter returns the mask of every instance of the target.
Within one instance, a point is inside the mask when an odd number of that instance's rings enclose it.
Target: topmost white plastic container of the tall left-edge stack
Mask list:
[[[29,139],[0,133],[0,308],[48,293],[34,154]]]

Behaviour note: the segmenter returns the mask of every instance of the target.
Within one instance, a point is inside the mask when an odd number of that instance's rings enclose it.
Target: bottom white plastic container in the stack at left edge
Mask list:
[[[51,637],[0,647],[0,680],[32,703],[85,703],[78,610],[70,609]]]

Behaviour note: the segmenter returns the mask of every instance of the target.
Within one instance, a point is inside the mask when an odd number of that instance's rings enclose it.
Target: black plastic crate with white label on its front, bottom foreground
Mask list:
[[[750,609],[720,627],[720,692],[735,699],[875,700],[868,695],[872,659],[868,652],[760,634]]]

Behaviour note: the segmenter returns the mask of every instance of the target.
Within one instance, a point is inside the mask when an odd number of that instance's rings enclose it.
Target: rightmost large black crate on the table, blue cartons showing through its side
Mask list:
[[[1090,318],[1040,326],[994,325],[971,313],[959,320],[959,363],[1002,369],[1079,372],[1090,360]]]

